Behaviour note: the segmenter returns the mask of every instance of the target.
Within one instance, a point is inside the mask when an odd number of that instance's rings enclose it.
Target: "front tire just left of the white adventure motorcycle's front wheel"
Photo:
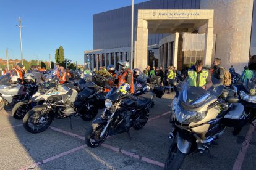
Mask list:
[[[14,105],[14,108],[12,108],[12,117],[18,120],[23,119],[30,109],[31,106],[28,105],[28,101],[18,102]]]

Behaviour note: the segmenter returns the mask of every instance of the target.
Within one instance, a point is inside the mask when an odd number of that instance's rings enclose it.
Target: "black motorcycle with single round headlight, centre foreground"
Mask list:
[[[92,122],[85,133],[85,144],[88,147],[100,146],[108,135],[128,132],[133,127],[142,129],[148,121],[149,108],[153,94],[146,93],[135,97],[113,87],[105,97],[105,110],[101,117]]]

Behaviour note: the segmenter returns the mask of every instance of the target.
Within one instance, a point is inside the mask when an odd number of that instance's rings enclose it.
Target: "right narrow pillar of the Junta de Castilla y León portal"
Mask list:
[[[205,67],[211,66],[211,56],[213,52],[213,28],[208,27],[205,34]]]

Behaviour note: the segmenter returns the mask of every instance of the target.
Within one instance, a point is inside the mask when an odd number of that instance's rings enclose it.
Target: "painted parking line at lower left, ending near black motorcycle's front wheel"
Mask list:
[[[33,169],[33,168],[35,168],[36,166],[38,166],[40,164],[48,163],[49,161],[56,160],[57,158],[60,158],[60,157],[65,156],[65,155],[68,155],[69,153],[77,152],[78,150],[81,150],[82,148],[85,148],[85,147],[87,147],[87,146],[86,145],[82,145],[80,147],[73,148],[73,149],[68,150],[66,152],[63,152],[63,153],[60,153],[58,155],[52,156],[50,158],[47,158],[47,159],[45,159],[43,161],[39,161],[37,163],[33,163],[33,164],[25,166],[23,168],[19,168],[19,170]]]

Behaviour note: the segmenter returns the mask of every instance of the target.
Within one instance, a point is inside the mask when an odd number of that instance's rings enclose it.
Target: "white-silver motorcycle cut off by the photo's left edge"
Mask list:
[[[10,73],[2,75],[0,77],[0,110],[4,108],[5,105],[9,105],[14,102],[17,103],[27,96],[27,87],[20,84],[20,80],[17,82],[11,82]]]

